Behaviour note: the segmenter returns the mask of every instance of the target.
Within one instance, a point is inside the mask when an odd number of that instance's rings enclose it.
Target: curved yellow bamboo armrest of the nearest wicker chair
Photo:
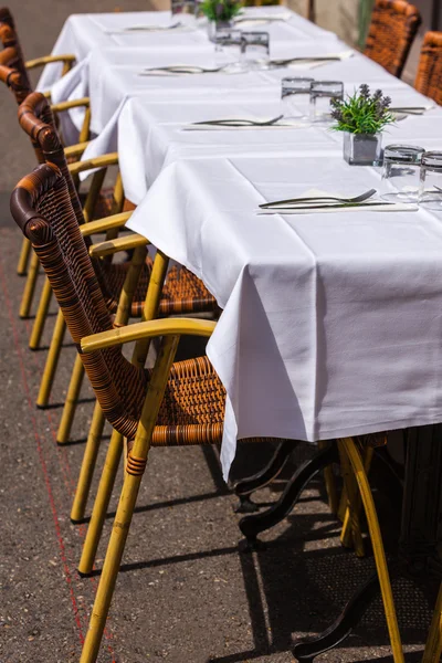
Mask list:
[[[82,338],[82,352],[103,350],[115,345],[140,340],[141,338],[155,338],[156,336],[206,336],[212,335],[217,323],[194,318],[167,318],[160,320],[147,320],[135,323],[125,327],[117,327],[109,332],[102,332],[93,336]]]

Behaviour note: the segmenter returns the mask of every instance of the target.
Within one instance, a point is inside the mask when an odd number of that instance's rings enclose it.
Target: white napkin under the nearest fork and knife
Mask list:
[[[303,193],[299,193],[299,196],[296,196],[296,198],[308,198],[308,197],[323,197],[323,196],[335,196],[337,198],[348,198],[348,194],[343,194],[343,193],[336,193],[336,192],[329,192],[329,191],[322,191],[319,189],[309,189],[308,191],[305,191]],[[365,201],[366,204],[364,203],[359,203],[358,207],[337,207],[334,208],[333,206],[338,206],[338,204],[345,204],[345,203],[340,203],[339,201],[334,201],[330,203],[326,202],[326,201],[322,201],[318,200],[317,202],[312,202],[309,204],[314,206],[314,204],[329,204],[329,208],[322,208],[322,209],[308,209],[307,207],[302,207],[302,204],[306,204],[306,203],[299,203],[298,206],[287,206],[287,207],[277,207],[277,208],[272,208],[272,209],[262,209],[259,208],[257,210],[255,210],[255,212],[257,214],[282,214],[282,215],[288,215],[288,214],[341,214],[341,213],[348,213],[348,212],[415,212],[419,210],[419,206],[415,203],[404,203],[404,202],[396,202],[396,203],[388,203],[386,202],[385,204],[376,204],[370,207],[368,203],[370,202],[382,202],[377,200],[376,198],[369,198],[368,200]]]

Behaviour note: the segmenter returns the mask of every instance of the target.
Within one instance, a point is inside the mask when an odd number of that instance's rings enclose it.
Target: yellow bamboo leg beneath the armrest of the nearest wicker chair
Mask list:
[[[106,625],[107,613],[114,593],[139,485],[147,462],[151,434],[166,390],[170,367],[177,351],[178,340],[178,336],[169,336],[164,339],[150,378],[141,418],[135,436],[134,448],[127,460],[117,514],[115,516],[80,663],[95,663],[98,655],[99,644]]]

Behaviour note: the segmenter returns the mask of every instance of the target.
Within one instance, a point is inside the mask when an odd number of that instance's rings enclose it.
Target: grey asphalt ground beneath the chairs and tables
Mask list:
[[[117,0],[95,0],[94,11]],[[122,10],[148,2],[118,2]],[[11,6],[28,57],[49,52],[65,17],[91,10],[91,2],[28,0]],[[42,18],[43,17],[43,18]],[[17,127],[15,107],[0,92],[0,663],[77,661],[98,576],[76,573],[86,525],[69,514],[92,415],[87,388],[73,442],[55,444],[61,403],[74,348],[66,344],[52,407],[34,407],[46,349],[27,347],[32,320],[19,320],[23,280],[15,275],[21,239],[7,212],[17,180],[34,165]],[[54,313],[54,312],[52,312]],[[53,325],[52,315],[43,345]],[[108,431],[107,431],[108,434]],[[107,439],[102,445],[103,463]],[[271,449],[241,449],[234,474],[260,467]],[[302,448],[297,462],[311,453]],[[118,486],[119,487],[119,486]],[[281,483],[257,499],[277,498]],[[118,490],[99,549],[99,569]],[[399,512],[377,492],[389,540]],[[295,512],[262,538],[265,550],[239,550],[235,498],[224,485],[217,453],[201,449],[154,450],[141,485],[103,641],[101,663],[290,663],[293,642],[322,631],[345,600],[373,570],[344,550],[323,484],[314,482]],[[420,660],[430,620],[427,599],[409,583],[396,586],[407,661]],[[380,603],[339,649],[333,663],[390,661]]]

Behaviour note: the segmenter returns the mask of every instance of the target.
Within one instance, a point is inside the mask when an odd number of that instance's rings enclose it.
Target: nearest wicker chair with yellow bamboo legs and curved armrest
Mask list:
[[[114,329],[67,185],[56,166],[40,166],[22,179],[12,193],[11,211],[40,257],[96,397],[114,427],[80,567],[83,571],[92,569],[123,436],[127,439],[124,487],[81,657],[81,663],[93,663],[98,655],[149,448],[213,444],[221,440],[225,394],[213,367],[207,357],[173,364],[179,337],[183,334],[209,337],[214,323],[169,318]],[[150,299],[158,299],[166,267],[167,259],[158,252],[154,265],[157,280],[150,284],[146,308]],[[161,337],[162,343],[152,371],[147,371],[144,364],[154,337]],[[129,341],[136,341],[131,364],[119,347]],[[364,462],[351,439],[339,440],[338,444],[343,461],[346,460],[360,486],[393,656],[399,663],[403,657],[394,603]],[[348,476],[346,472],[346,481]]]

